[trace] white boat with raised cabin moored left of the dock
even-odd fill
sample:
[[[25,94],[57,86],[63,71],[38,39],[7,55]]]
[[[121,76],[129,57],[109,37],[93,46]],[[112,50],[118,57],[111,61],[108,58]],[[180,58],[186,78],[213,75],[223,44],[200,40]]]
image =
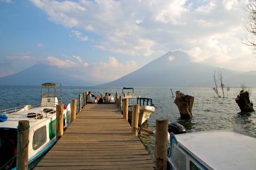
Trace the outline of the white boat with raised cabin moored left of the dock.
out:
[[[17,126],[20,120],[28,120],[30,125],[28,169],[33,168],[42,159],[57,141],[56,105],[58,104],[62,104],[61,84],[43,83],[40,104],[0,111],[0,115],[7,118],[5,122],[0,122],[0,168],[4,166],[3,169],[16,169]],[[65,129],[69,124],[70,104],[64,105],[63,109]],[[11,161],[7,163],[9,160]]]

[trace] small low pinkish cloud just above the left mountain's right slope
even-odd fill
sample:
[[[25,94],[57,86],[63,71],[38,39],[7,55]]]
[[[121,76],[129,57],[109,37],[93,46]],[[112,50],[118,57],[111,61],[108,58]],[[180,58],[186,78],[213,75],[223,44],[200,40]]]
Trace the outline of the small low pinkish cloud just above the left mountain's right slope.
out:
[[[77,63],[72,62],[70,60],[60,60],[59,58],[53,56],[48,56],[47,62],[48,64],[57,66],[59,68],[71,68],[79,66]]]

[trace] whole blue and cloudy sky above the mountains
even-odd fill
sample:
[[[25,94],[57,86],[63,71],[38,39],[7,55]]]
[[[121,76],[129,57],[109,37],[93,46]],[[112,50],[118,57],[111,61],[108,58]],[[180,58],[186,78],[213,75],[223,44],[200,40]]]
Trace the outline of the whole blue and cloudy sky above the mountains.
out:
[[[255,52],[241,43],[250,37],[248,3],[0,0],[0,77],[43,63],[103,83],[174,50],[191,62],[253,71]]]

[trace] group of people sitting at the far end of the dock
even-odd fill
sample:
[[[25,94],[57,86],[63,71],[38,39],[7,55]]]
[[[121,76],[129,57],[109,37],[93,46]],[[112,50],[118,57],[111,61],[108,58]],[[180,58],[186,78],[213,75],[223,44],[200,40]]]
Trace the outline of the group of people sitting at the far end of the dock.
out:
[[[94,99],[93,99],[94,98]],[[91,91],[89,91],[88,95],[86,96],[86,103],[93,103],[93,104],[109,104],[115,103],[115,99],[111,94],[107,93],[105,96],[101,93],[100,96],[94,96]]]

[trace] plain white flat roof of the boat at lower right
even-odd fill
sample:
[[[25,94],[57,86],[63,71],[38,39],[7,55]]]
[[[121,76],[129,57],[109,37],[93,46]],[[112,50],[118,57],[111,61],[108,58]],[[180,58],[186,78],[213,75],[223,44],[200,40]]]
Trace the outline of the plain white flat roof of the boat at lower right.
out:
[[[255,169],[256,138],[235,130],[175,135],[179,145],[213,169]]]

